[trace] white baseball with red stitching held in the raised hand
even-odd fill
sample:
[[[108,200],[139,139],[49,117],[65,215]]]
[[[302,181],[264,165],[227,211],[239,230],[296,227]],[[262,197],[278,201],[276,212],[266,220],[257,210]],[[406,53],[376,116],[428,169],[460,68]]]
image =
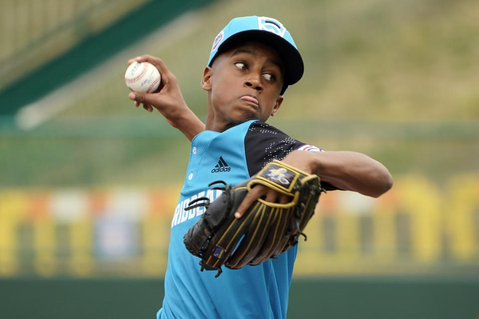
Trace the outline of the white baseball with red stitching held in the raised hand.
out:
[[[156,66],[149,62],[133,62],[125,72],[126,86],[133,92],[155,92],[161,82]]]

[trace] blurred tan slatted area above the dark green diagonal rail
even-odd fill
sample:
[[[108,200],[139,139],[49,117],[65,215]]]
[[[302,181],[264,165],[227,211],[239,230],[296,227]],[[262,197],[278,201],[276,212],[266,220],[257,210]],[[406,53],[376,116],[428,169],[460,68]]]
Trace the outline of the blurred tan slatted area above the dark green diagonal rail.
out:
[[[147,0],[1,0],[0,87]]]

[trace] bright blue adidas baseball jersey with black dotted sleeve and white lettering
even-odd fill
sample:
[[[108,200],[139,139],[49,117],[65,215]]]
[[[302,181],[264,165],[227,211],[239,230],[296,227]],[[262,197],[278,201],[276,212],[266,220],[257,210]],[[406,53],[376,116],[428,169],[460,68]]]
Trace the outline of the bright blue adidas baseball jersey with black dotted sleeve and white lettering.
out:
[[[221,194],[210,189],[210,182],[239,183],[293,150],[322,151],[258,121],[222,133],[204,131],[193,139],[185,182],[171,221],[165,298],[158,319],[286,318],[297,245],[257,266],[225,268],[215,278],[216,271],[200,271],[200,258],[187,251],[183,236],[205,209],[186,211],[189,202],[199,197],[213,201]],[[328,184],[323,187],[334,189]]]

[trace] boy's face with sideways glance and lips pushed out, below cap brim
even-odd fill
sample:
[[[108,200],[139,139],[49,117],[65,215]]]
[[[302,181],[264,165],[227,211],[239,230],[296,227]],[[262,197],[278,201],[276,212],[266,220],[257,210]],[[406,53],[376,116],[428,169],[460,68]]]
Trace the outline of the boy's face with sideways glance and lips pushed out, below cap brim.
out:
[[[258,42],[243,43],[218,55],[202,79],[215,127],[266,121],[283,100],[279,95],[283,72],[279,54]]]

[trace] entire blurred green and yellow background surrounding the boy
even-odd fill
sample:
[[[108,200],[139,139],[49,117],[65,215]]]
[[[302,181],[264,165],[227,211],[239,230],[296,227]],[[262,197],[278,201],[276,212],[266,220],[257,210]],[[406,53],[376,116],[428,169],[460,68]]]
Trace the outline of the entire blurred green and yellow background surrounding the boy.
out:
[[[128,100],[126,62],[161,57],[205,119],[213,39],[253,14],[305,64],[269,123],[395,178],[321,198],[288,318],[479,314],[478,1],[1,0],[0,318],[153,318],[189,142]]]

